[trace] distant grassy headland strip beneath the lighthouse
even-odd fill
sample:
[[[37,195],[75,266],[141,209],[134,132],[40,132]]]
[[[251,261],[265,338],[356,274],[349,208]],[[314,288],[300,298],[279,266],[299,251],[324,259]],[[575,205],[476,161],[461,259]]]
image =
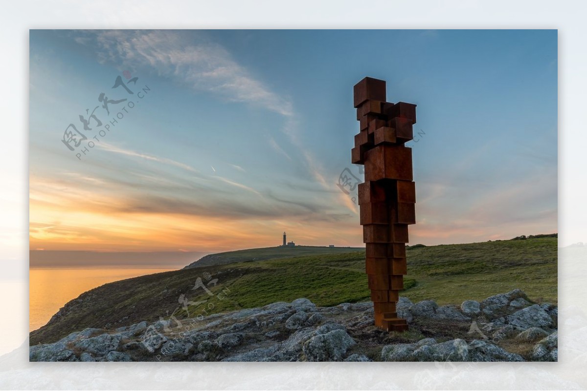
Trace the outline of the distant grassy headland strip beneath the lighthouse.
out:
[[[265,247],[246,250],[228,251],[206,255],[196,262],[190,263],[184,269],[210,265],[227,265],[228,263],[247,262],[249,260],[266,260],[277,258],[292,258],[293,256],[332,255],[348,253],[351,251],[365,251],[365,248],[357,247],[319,247],[319,246],[295,246],[295,247]]]

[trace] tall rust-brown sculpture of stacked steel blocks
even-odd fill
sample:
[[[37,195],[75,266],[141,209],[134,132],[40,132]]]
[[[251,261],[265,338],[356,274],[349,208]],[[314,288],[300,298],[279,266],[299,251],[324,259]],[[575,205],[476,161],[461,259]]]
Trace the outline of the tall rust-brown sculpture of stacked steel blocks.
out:
[[[386,102],[385,81],[366,77],[355,85],[355,108],[359,134],[351,159],[365,164],[358,197],[375,325],[404,331],[396,304],[407,274],[407,226],[416,223],[411,148],[404,143],[413,137],[416,105]]]

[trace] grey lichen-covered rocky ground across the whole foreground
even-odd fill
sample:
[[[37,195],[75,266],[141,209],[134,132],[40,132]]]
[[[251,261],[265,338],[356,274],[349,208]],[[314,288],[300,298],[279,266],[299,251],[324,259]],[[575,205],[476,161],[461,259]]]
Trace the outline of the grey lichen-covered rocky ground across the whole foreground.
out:
[[[29,348],[31,361],[557,361],[558,308],[521,290],[460,306],[400,298],[407,332],[373,326],[372,303],[308,299],[196,318],[86,328]]]

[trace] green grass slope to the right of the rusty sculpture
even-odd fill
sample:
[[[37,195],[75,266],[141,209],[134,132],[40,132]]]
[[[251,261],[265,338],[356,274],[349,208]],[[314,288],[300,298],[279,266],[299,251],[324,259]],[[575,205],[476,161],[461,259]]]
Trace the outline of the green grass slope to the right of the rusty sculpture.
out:
[[[532,300],[557,303],[556,243],[537,238],[410,248],[408,275],[418,284],[404,296],[457,304],[519,288]]]

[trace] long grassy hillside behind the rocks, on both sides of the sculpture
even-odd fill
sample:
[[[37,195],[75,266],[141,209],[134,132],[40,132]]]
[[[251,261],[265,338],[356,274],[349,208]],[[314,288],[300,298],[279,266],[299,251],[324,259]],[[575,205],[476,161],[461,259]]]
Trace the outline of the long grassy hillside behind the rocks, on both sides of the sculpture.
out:
[[[402,296],[459,304],[519,288],[534,301],[556,303],[556,253],[556,238],[409,248]],[[202,287],[193,289],[198,277],[203,283],[211,279],[212,296]],[[248,260],[105,284],[70,301],[62,315],[31,332],[31,344],[86,327],[205,316],[298,297],[318,306],[369,300],[365,252]],[[194,304],[198,301],[204,302]]]

